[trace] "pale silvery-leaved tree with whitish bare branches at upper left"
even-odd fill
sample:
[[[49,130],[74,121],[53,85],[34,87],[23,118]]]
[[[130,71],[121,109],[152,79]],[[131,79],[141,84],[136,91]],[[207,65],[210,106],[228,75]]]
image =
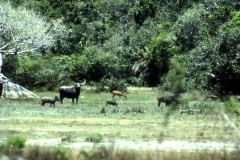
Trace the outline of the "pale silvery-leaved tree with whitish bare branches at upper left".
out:
[[[44,53],[67,35],[61,20],[46,21],[31,10],[0,3],[0,72],[7,55]]]

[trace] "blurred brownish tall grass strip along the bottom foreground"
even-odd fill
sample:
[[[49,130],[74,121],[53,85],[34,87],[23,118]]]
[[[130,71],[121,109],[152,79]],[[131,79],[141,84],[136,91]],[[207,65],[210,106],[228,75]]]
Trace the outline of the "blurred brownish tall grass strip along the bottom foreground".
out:
[[[238,159],[239,151],[235,152],[208,152],[208,151],[164,151],[154,149],[119,149],[114,144],[111,146],[97,146],[92,149],[79,149],[72,150],[63,148],[61,146],[56,147],[44,147],[44,146],[27,146],[22,152],[19,150],[9,151],[4,146],[0,146],[0,151],[3,151],[9,157],[18,155],[27,160],[233,160]],[[6,153],[11,153],[6,154]],[[1,157],[1,156],[0,156]]]

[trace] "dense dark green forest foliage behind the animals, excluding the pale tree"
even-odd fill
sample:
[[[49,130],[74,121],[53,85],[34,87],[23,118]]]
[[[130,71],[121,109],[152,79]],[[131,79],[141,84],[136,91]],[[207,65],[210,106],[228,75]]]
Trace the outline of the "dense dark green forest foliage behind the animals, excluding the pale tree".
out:
[[[61,18],[69,31],[42,56],[11,57],[14,65],[7,57],[2,72],[21,85],[53,90],[85,78],[100,88],[160,85],[174,91],[180,78],[181,91],[240,91],[237,0],[10,2],[48,21]]]

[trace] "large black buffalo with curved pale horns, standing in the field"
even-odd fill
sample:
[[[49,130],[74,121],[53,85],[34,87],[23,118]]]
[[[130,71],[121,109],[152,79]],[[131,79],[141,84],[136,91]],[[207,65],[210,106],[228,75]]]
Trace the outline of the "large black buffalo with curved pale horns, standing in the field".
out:
[[[74,104],[74,98],[76,98],[76,104],[77,104],[78,97],[81,91],[81,86],[85,84],[86,84],[86,80],[84,79],[83,83],[75,83],[74,86],[61,86],[59,88],[61,103],[63,101],[63,98],[72,98],[72,103]]]

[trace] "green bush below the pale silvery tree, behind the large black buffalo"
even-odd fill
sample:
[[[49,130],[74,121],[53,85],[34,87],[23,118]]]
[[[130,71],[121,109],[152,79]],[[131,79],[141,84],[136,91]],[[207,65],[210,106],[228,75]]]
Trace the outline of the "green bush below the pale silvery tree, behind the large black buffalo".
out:
[[[16,59],[16,62],[14,61],[16,66],[11,65],[11,60],[14,59]],[[59,58],[52,54],[39,56],[28,53],[24,57],[9,57],[4,64],[3,71],[8,72],[6,76],[9,76],[15,83],[28,89],[52,91],[62,83],[66,84],[70,81],[71,65],[67,62],[71,62],[67,56]]]

